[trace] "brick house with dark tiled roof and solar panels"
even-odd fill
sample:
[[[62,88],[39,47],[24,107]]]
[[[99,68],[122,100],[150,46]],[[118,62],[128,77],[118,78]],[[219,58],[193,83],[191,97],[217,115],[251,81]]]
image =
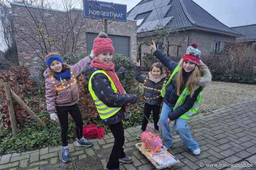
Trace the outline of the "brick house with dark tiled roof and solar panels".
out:
[[[161,44],[166,36],[164,42],[168,51],[165,52],[170,57],[183,57],[191,42],[198,44],[202,55],[218,53],[226,43],[234,43],[242,36],[192,0],[141,0],[128,12],[128,18],[137,21],[138,44],[147,38]],[[163,28],[166,33],[159,33]],[[148,52],[150,47],[141,45],[139,50],[143,57],[144,51]]]

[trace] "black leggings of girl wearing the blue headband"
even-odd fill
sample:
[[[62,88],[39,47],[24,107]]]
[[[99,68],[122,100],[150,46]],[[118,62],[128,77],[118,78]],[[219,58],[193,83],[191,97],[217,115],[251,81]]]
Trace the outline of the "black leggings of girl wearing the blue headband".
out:
[[[71,115],[76,125],[77,139],[83,137],[83,120],[80,109],[77,104],[72,106],[57,106],[59,122],[61,123],[62,146],[67,146],[68,113]]]

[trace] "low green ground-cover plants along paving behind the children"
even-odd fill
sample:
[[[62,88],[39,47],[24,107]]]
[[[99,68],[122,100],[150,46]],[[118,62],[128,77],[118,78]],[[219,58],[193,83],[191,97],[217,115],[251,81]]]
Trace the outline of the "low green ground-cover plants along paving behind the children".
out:
[[[130,108],[132,116],[127,121],[123,121],[124,128],[135,127],[141,125],[143,119],[143,106],[139,102],[139,109],[136,105]],[[22,130],[18,132],[16,138],[12,137],[12,130],[1,127],[0,132],[0,154],[25,152],[29,150],[37,150],[39,148],[54,147],[61,145],[61,127],[59,123],[52,121],[47,112],[42,111],[37,114],[45,123],[46,128],[40,127],[37,122],[30,120],[26,121]],[[153,122],[150,117],[150,122]],[[105,134],[110,132],[107,125],[104,125],[100,119],[95,119],[89,122],[84,121],[84,126],[94,123],[99,127],[104,127]],[[75,123],[69,122],[68,142],[72,143],[76,138]]]

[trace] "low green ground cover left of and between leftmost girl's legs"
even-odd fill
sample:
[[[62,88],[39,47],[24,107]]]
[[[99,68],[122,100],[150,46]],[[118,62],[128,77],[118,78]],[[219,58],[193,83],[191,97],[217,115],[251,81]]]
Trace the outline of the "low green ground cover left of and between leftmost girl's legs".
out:
[[[51,121],[48,113],[37,114],[46,125],[40,127],[35,121],[26,121],[16,138],[12,138],[12,130],[3,128],[0,134],[0,153],[24,152],[47,146],[61,145],[61,127],[59,123]],[[75,123],[69,122],[69,143],[75,139]]]

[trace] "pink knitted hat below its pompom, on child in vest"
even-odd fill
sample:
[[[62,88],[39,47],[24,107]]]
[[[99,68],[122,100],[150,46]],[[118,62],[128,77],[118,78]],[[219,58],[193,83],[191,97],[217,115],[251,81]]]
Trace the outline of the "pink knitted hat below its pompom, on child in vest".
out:
[[[103,52],[114,53],[114,47],[110,38],[95,38],[93,41],[93,55],[98,56]]]

